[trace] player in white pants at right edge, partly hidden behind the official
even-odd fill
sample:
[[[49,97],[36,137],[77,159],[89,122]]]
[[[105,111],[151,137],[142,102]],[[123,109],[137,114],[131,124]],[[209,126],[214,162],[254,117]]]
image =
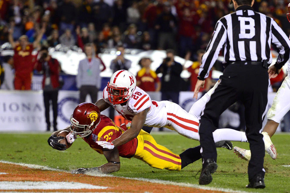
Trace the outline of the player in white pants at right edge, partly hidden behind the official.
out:
[[[290,22],[290,3],[288,4],[287,19]],[[289,37],[290,39],[290,37]],[[279,60],[279,58],[278,58]],[[276,72],[276,76],[280,73],[281,69]],[[265,143],[265,150],[270,154],[273,160],[277,158],[277,150],[272,143],[270,137],[276,132],[281,119],[290,110],[290,60],[287,62],[288,75],[282,82],[281,87],[278,89],[276,96],[273,100],[272,106],[267,113],[268,121],[262,131],[264,135],[263,140]],[[275,77],[273,77],[275,78]],[[244,160],[249,161],[251,158],[251,151],[245,150],[240,147],[234,147],[234,152]]]

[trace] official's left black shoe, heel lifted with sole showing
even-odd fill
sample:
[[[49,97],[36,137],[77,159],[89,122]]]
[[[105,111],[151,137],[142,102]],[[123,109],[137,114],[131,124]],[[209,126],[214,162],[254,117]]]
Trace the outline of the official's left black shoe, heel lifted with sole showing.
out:
[[[199,184],[206,185],[211,183],[212,177],[211,174],[215,172],[218,168],[217,163],[215,163],[214,159],[209,158],[202,164],[201,173],[199,176]]]

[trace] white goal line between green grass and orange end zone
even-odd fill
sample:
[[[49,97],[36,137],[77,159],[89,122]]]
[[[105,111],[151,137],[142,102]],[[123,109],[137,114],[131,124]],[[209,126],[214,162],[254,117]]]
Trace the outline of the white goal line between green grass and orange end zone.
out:
[[[16,164],[20,166],[26,166],[29,168],[34,169],[43,169],[43,170],[51,170],[51,171],[60,171],[60,172],[67,172],[70,173],[70,171],[62,170],[62,169],[54,169],[50,168],[48,166],[40,166],[40,165],[34,165],[34,164],[27,164],[27,163],[14,163],[14,162],[8,162],[0,160],[1,163],[8,163],[8,164]],[[131,180],[139,180],[139,181],[145,181],[145,182],[152,182],[152,183],[158,183],[158,184],[167,184],[167,185],[177,185],[177,186],[185,186],[185,187],[191,187],[191,188],[199,188],[203,190],[212,190],[212,191],[224,191],[224,192],[232,192],[232,193],[249,193],[247,191],[239,191],[239,190],[232,190],[228,188],[214,188],[214,187],[205,187],[197,184],[189,184],[189,183],[183,183],[183,182],[172,182],[167,180],[158,180],[158,179],[146,179],[146,178],[127,178],[127,177],[120,177],[120,176],[113,176],[109,174],[96,174],[96,173],[87,173],[89,176],[98,176],[98,177],[117,177],[117,178],[124,178],[124,179],[131,179]],[[252,192],[255,193],[255,192]]]

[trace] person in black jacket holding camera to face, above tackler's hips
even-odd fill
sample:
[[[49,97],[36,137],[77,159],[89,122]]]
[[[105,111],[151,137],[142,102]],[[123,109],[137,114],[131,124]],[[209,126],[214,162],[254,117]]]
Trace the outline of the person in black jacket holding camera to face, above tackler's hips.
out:
[[[182,65],[174,60],[174,50],[166,50],[166,58],[156,69],[156,74],[162,73],[161,77],[161,100],[172,100],[179,104],[179,91],[181,89]]]

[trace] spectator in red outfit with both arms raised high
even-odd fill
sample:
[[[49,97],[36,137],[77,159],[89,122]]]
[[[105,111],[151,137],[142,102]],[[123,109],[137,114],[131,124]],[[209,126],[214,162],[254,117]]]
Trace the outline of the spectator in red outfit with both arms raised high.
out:
[[[14,28],[9,31],[8,40],[11,47],[14,49],[14,68],[15,90],[31,90],[31,76],[35,64],[35,57],[31,54],[34,48],[36,48],[45,32],[45,26],[40,30],[35,41],[30,44],[26,35],[20,36],[19,43],[15,43],[12,37]]]

